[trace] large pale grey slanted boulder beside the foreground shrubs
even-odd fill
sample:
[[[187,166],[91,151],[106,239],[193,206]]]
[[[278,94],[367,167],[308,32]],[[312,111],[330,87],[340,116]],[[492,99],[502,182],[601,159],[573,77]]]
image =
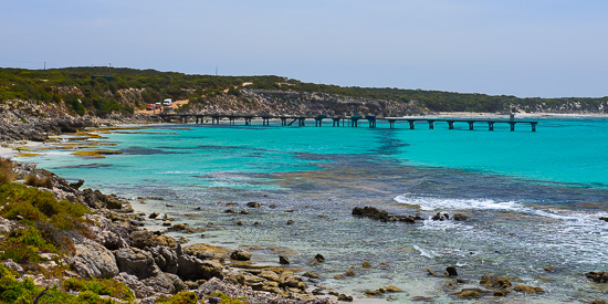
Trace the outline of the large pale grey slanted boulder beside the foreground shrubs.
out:
[[[67,263],[76,270],[78,275],[108,279],[118,274],[116,258],[105,247],[87,239],[74,247],[76,253],[67,259]]]

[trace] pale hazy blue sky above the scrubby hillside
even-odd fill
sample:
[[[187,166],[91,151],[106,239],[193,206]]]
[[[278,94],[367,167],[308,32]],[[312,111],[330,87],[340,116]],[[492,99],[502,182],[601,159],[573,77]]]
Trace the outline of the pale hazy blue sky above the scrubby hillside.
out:
[[[605,0],[1,0],[0,67],[608,96]]]

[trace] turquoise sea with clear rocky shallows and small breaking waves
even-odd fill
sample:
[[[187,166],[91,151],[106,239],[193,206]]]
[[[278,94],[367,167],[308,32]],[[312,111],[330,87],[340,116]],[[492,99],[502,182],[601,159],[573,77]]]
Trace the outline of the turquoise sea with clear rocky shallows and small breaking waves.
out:
[[[84,158],[74,149],[44,149],[20,160],[128,198],[137,212],[206,228],[170,235],[247,248],[261,264],[285,255],[290,266],[319,273],[318,284],[357,297],[396,285],[405,292],[382,298],[451,302],[462,289],[481,287],[483,274],[495,274],[545,290],[514,292],[510,301],[608,298],[606,286],[584,275],[608,270],[608,222],[599,220],[608,217],[608,119],[538,120],[535,133],[523,124],[515,132],[506,124],[469,130],[464,123],[454,129],[445,123],[434,129],[426,123],[416,129],[407,123],[395,129],[382,123],[150,125],[87,139],[122,154]],[[248,208],[251,201],[261,208]],[[350,214],[364,206],[424,220],[382,223]],[[469,219],[433,221],[437,212]],[[147,224],[165,229],[161,221]],[[308,265],[317,253],[326,262]],[[464,283],[427,274],[449,265]],[[348,269],[356,275],[334,277]]]

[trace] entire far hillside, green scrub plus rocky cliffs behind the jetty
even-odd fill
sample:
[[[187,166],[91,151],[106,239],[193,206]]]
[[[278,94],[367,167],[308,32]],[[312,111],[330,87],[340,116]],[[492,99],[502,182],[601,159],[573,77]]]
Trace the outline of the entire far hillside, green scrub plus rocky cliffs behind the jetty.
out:
[[[182,112],[379,116],[423,112],[608,113],[608,97],[518,98],[440,91],[343,87],[280,76],[188,75],[154,70],[0,69],[0,103],[55,105],[73,115],[133,114],[164,98]]]

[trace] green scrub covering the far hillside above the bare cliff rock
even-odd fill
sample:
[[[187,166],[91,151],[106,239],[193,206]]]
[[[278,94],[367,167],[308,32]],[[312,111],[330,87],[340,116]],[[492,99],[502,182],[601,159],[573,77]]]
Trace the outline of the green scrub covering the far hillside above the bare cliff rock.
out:
[[[405,84],[407,85],[407,84]],[[608,97],[516,97],[391,87],[357,87],[304,83],[281,76],[189,75],[154,70],[66,67],[54,70],[0,69],[0,102],[21,99],[64,103],[75,114],[104,117],[133,114],[164,98],[189,99],[192,105],[222,103],[218,96],[251,102],[242,90],[322,93],[373,101],[417,102],[431,112],[553,112],[606,113]]]

